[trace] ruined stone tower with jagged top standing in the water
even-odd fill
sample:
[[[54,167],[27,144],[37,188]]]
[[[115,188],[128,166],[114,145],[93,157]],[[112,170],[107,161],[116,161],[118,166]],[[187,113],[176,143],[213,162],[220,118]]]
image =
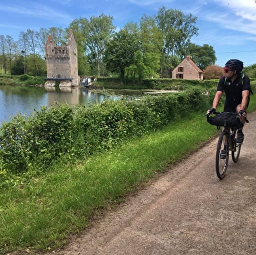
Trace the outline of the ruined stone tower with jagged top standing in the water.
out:
[[[72,87],[80,85],[78,53],[72,29],[69,29],[67,46],[56,46],[52,35],[45,44],[47,78],[45,86]]]

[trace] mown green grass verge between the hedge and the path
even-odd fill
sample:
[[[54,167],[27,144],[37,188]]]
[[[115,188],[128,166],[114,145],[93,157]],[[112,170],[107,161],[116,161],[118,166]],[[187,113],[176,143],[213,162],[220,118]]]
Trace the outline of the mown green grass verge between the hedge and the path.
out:
[[[256,108],[254,97],[249,110]],[[93,215],[145,187],[217,132],[203,113],[194,114],[86,162],[63,160],[29,183],[1,190],[0,254],[61,247]]]

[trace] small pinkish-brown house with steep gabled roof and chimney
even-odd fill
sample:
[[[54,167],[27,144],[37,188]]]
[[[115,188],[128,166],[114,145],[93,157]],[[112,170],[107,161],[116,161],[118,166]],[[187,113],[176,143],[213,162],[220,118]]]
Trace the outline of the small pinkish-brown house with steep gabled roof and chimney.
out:
[[[190,55],[187,55],[180,65],[172,71],[172,79],[203,80],[203,74],[204,72],[195,65]]]

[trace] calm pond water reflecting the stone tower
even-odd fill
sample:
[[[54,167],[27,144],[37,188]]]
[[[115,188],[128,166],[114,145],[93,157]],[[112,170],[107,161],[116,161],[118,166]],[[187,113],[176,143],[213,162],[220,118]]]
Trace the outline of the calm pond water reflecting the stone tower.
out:
[[[116,93],[111,91],[110,94]],[[34,109],[41,106],[52,106],[55,102],[65,102],[70,105],[102,103],[108,98],[117,100],[121,97],[134,98],[141,95],[140,91],[119,91],[118,95],[104,95],[101,91],[93,92],[83,87],[76,88],[44,88],[0,86],[0,125],[9,121],[10,117],[21,113],[30,115]]]

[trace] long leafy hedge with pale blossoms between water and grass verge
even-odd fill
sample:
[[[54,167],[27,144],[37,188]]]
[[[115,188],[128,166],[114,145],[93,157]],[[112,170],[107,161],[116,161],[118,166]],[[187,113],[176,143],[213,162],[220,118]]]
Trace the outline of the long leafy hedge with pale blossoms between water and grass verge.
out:
[[[63,156],[88,158],[207,107],[208,98],[199,89],[139,100],[107,100],[89,107],[42,107],[3,124],[0,163],[5,173],[46,171]]]

